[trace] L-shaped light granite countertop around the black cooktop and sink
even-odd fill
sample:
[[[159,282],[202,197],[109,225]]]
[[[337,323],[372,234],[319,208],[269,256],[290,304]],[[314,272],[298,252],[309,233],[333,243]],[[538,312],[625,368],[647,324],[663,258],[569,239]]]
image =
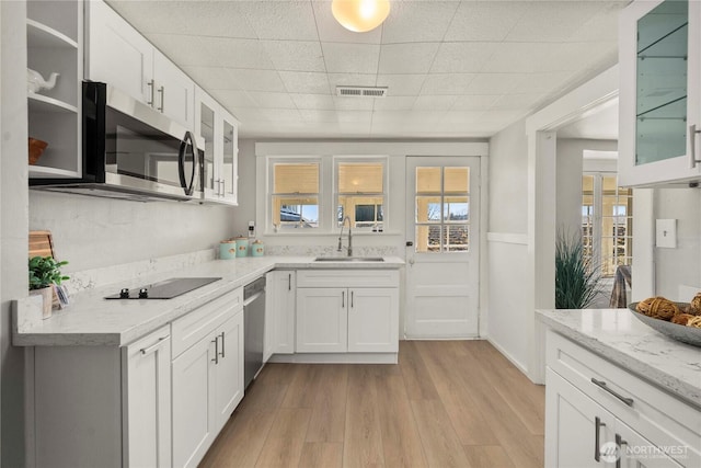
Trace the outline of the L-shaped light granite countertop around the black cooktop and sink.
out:
[[[148,278],[90,289],[70,298],[70,305],[42,320],[38,297],[15,301],[13,339],[15,346],[122,346],[222,294],[246,285],[275,270],[378,270],[400,269],[404,261],[386,256],[383,262],[314,262],[313,256],[261,256],[215,260]],[[172,299],[107,300],[120,288],[135,288],[170,277],[221,277],[220,281]]]

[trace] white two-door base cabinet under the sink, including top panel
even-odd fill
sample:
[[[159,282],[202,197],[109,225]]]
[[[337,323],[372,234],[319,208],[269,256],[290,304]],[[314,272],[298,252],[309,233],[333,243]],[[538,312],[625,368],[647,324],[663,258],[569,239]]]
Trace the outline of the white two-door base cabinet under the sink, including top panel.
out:
[[[298,353],[397,353],[397,271],[300,271]]]

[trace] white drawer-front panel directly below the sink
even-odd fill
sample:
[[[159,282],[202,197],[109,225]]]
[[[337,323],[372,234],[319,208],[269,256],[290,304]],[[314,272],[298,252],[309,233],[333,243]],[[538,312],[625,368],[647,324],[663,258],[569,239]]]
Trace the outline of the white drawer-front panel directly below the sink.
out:
[[[399,287],[397,270],[301,270],[297,287]]]

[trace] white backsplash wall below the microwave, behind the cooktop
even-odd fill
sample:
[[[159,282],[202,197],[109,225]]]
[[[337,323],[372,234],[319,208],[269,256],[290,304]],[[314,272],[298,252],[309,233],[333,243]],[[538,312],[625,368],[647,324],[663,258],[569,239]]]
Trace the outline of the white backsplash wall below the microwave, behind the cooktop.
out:
[[[233,209],[30,191],[30,228],[50,230],[67,273],[216,249],[233,236]]]

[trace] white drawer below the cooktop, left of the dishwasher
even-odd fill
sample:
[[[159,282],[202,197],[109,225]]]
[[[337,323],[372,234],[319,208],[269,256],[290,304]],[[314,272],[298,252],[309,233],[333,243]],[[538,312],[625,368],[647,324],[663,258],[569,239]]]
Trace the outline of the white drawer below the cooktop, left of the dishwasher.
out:
[[[243,310],[243,288],[205,304],[172,323],[173,358],[197,343],[237,311]]]

